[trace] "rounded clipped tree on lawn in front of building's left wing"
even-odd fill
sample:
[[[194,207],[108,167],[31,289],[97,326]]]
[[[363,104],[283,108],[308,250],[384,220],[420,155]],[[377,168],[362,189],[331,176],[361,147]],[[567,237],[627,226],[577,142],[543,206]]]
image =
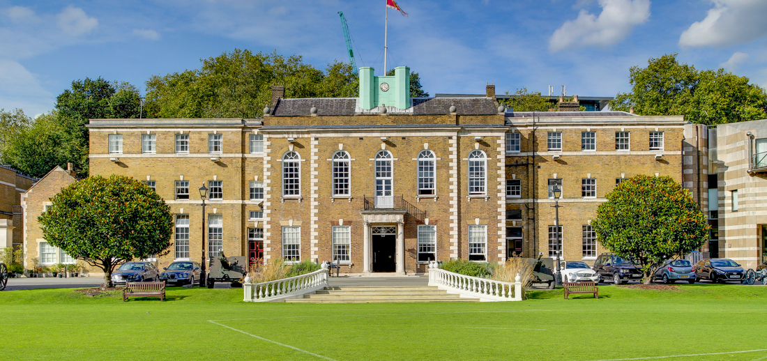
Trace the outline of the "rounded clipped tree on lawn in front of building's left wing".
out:
[[[125,176],[92,176],[51,198],[38,220],[43,237],[71,257],[104,271],[126,261],[164,255],[173,234],[170,207],[152,189]]]

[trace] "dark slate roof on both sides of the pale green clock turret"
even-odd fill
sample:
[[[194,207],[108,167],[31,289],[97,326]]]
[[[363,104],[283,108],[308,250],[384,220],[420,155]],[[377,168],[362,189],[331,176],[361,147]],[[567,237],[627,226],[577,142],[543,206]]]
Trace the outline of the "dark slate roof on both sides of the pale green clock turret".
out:
[[[492,115],[498,113],[498,105],[487,98],[413,98],[415,115],[445,115],[450,107],[456,107],[458,115]],[[349,116],[357,113],[357,98],[298,98],[280,99],[272,110],[274,117],[300,117],[311,115],[311,107],[317,108],[318,116]]]

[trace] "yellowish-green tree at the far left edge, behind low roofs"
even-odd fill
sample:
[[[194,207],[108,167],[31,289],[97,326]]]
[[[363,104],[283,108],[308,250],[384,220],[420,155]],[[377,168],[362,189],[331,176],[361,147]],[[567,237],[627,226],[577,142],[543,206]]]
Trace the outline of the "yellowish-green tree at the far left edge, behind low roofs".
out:
[[[21,123],[4,137],[0,161],[30,176],[41,177],[70,160],[65,147],[68,139],[58,115],[43,114],[31,123]]]

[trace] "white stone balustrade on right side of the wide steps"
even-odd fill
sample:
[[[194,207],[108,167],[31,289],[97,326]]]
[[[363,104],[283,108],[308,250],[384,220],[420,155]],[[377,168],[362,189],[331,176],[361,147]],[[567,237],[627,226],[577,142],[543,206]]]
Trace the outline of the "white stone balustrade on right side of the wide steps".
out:
[[[479,298],[482,302],[522,300],[522,278],[515,282],[494,281],[486,278],[465,276],[439,269],[437,262],[429,264],[429,285],[446,290],[449,294]]]

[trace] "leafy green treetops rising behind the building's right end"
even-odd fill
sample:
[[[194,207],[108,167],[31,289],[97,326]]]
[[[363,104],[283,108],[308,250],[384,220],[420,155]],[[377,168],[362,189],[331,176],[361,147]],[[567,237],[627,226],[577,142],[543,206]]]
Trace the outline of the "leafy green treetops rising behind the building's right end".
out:
[[[719,69],[698,71],[680,64],[676,54],[650,58],[647,67],[631,67],[630,93],[610,102],[614,110],[640,115],[683,115],[700,124],[734,123],[767,118],[767,93],[748,77]]]

